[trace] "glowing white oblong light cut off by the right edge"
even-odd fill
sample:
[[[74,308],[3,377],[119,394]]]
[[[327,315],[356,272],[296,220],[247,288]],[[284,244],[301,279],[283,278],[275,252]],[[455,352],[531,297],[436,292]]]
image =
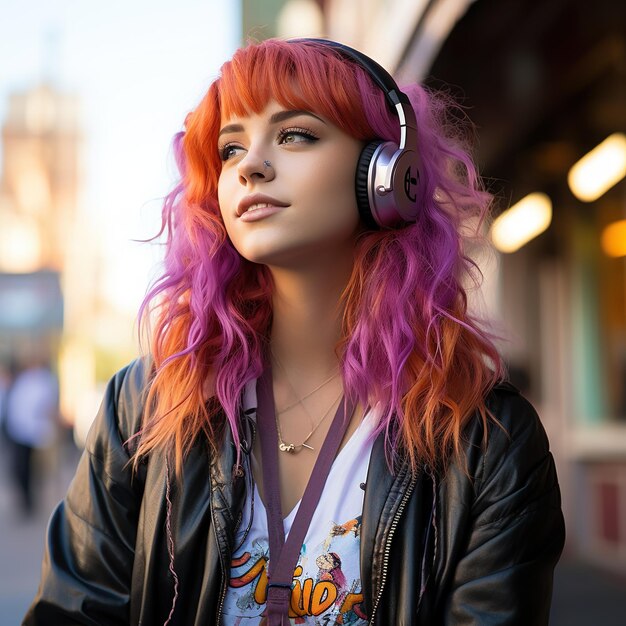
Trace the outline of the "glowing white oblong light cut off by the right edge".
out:
[[[567,175],[572,193],[592,202],[626,176],[626,135],[613,133],[575,163]]]

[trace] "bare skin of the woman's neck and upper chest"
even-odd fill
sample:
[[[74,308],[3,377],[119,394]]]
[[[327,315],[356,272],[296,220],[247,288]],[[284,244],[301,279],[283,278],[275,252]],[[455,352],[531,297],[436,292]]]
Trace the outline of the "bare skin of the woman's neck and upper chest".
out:
[[[322,267],[324,262],[326,266]],[[351,270],[351,264],[343,265],[336,258],[321,260],[311,272],[272,268],[275,419],[283,445],[297,448],[293,453],[279,452],[283,516],[302,498],[343,394],[335,348],[341,338],[340,298]],[[350,439],[360,419],[357,408],[350,417],[342,445]],[[259,442],[257,437],[257,459],[261,456]],[[253,471],[263,497],[258,466]]]

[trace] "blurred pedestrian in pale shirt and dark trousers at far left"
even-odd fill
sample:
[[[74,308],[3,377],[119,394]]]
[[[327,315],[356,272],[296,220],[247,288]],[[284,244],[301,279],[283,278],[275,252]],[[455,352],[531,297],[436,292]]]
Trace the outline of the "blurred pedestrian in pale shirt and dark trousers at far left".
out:
[[[59,388],[49,366],[31,359],[6,395],[5,432],[11,448],[11,477],[25,515],[34,511],[34,453],[50,446],[59,417]]]

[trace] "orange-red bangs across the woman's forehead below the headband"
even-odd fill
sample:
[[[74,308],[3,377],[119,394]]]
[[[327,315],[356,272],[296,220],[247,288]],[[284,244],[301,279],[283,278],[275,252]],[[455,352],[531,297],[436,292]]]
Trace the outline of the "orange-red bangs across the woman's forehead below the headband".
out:
[[[217,81],[224,120],[260,113],[276,100],[288,110],[321,115],[362,140],[375,137],[363,106],[364,90],[375,93],[377,88],[364,70],[334,49],[276,39],[238,50]]]

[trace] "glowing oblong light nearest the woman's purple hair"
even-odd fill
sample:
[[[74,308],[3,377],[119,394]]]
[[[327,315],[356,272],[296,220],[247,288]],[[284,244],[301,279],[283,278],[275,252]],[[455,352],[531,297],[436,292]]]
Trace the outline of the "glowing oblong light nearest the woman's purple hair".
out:
[[[496,218],[491,240],[500,252],[515,252],[546,230],[551,221],[550,198],[545,193],[531,193]]]

